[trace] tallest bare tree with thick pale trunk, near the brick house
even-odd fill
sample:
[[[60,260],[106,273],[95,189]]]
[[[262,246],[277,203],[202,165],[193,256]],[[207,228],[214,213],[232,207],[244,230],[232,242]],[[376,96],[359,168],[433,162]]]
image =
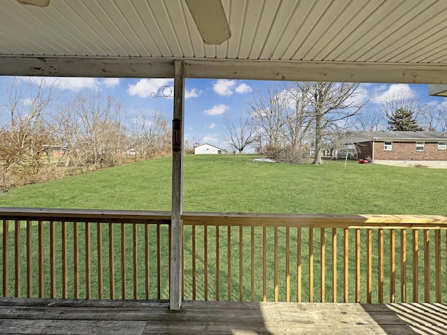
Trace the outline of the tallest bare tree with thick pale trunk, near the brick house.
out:
[[[314,124],[314,164],[321,164],[325,131],[357,114],[367,103],[357,83],[297,82]]]

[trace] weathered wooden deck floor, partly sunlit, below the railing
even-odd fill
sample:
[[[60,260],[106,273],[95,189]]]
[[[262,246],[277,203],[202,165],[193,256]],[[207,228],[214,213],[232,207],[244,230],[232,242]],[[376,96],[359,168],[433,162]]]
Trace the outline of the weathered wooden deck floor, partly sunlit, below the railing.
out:
[[[0,334],[447,334],[444,304],[0,298]]]

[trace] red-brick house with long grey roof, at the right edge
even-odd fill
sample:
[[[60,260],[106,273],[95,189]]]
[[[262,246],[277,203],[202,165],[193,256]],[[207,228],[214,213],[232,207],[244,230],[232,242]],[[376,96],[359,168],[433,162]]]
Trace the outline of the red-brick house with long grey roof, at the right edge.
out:
[[[376,164],[447,168],[447,132],[348,132],[342,144],[355,144],[358,158]]]

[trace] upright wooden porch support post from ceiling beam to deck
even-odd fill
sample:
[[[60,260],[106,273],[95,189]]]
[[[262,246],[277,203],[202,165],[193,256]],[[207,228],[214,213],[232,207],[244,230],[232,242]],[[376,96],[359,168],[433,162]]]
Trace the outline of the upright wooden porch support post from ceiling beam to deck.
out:
[[[178,311],[182,305],[184,61],[175,61],[174,68],[173,206],[170,223],[169,307],[171,310]]]

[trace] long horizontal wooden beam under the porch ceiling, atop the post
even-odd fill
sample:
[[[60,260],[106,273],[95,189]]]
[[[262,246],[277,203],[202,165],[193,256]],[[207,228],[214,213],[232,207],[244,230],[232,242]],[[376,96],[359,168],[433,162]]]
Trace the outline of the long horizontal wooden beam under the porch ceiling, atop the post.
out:
[[[0,75],[172,78],[183,61],[191,78],[447,84],[446,64],[173,57],[0,55]]]

